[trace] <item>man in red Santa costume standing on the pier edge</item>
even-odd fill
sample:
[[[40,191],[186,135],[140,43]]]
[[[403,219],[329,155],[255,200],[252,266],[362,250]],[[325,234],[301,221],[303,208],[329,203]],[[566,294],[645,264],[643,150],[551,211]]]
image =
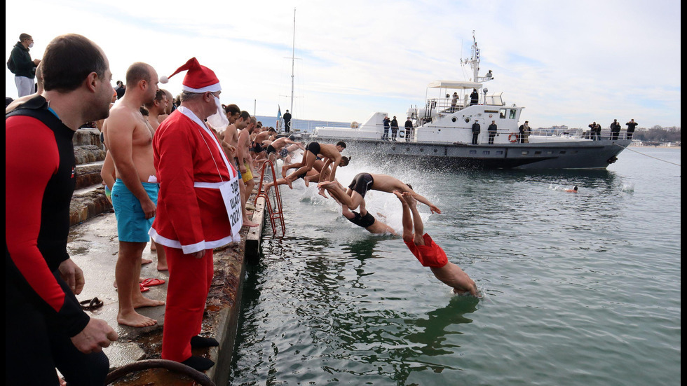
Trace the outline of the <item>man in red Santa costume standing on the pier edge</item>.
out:
[[[242,217],[238,174],[205,123],[218,130],[229,124],[219,80],[195,57],[171,76],[180,71],[187,71],[182,104],[153,137],[160,193],[149,234],[164,246],[170,274],[162,358],[205,371],[215,362],[191,355],[191,347],[219,345],[198,335],[212,282],[212,249],[240,240]]]

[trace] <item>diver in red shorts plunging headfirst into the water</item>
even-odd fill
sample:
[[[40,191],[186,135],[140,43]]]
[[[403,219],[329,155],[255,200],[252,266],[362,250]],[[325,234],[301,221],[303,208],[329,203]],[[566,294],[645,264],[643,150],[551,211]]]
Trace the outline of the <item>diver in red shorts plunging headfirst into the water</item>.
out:
[[[453,287],[454,294],[478,296],[475,282],[460,267],[449,262],[444,249],[438,246],[430,235],[424,233],[422,218],[417,210],[417,202],[413,195],[409,192],[401,193],[400,191],[394,191],[393,194],[403,205],[403,242],[422,266],[429,267],[437,279],[449,287]],[[413,228],[415,233],[413,233]]]

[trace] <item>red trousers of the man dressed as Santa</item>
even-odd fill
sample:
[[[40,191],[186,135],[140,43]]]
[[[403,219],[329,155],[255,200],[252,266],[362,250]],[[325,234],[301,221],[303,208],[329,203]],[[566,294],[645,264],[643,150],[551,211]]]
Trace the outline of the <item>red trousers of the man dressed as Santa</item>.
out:
[[[182,362],[191,357],[191,338],[200,333],[214,266],[212,249],[196,259],[181,249],[165,247],[170,278],[167,284],[162,359]]]

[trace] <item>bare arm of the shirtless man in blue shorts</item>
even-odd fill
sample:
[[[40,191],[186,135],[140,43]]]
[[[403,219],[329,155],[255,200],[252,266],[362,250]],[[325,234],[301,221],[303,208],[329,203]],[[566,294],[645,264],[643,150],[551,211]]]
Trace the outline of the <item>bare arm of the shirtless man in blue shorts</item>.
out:
[[[112,153],[114,166],[126,188],[141,202],[146,219],[155,216],[155,204],[141,184],[141,179],[134,165],[133,133],[136,121],[123,111],[116,111],[105,120],[103,130],[107,137],[107,147]]]

